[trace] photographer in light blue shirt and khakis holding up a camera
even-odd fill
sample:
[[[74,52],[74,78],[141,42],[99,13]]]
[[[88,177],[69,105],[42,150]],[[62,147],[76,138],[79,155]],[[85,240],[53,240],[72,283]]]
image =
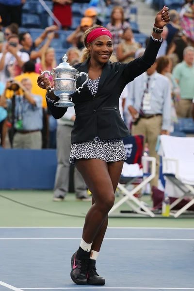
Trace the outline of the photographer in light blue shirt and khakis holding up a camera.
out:
[[[43,127],[42,97],[31,93],[32,82],[28,78],[22,79],[21,82],[14,81],[15,84],[23,91],[22,95],[16,95],[15,98],[15,118],[14,128],[15,135],[13,141],[14,148],[41,149]],[[6,82],[6,88],[0,98],[0,106],[12,108],[12,99],[6,100],[6,90],[10,88],[10,81]]]

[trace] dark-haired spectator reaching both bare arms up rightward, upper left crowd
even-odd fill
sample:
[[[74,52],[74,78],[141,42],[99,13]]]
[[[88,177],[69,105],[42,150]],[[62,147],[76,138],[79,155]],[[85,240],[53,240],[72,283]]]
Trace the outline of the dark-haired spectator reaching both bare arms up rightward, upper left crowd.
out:
[[[40,58],[43,50],[49,47],[52,39],[54,38],[54,31],[56,29],[57,27],[55,25],[47,27],[45,31],[34,40],[34,42],[32,41],[32,36],[30,35],[29,32],[19,33],[19,42],[22,45],[22,49],[20,49],[20,51],[27,52],[31,60],[36,60],[37,58]],[[42,46],[42,48],[39,50],[35,50],[43,43],[46,37],[48,37],[48,39],[46,43]]]

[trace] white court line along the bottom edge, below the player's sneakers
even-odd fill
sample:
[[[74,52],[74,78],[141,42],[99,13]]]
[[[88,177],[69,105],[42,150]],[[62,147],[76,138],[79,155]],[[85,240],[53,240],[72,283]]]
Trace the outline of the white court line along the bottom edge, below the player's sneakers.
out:
[[[62,288],[21,288],[21,290],[55,290],[55,289],[127,289],[127,290],[194,290],[194,288],[162,288],[162,287],[62,287]]]

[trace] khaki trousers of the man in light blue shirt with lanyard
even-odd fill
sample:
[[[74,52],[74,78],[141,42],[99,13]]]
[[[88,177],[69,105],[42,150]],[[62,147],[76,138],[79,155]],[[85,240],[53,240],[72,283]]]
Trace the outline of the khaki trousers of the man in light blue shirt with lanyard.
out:
[[[137,125],[132,126],[132,135],[144,135],[144,143],[148,143],[149,156],[156,158],[156,176],[150,182],[152,186],[158,187],[159,170],[160,170],[160,157],[155,148],[157,144],[158,135],[162,129],[162,115],[157,115],[151,118],[141,118]],[[152,191],[151,191],[152,193]]]

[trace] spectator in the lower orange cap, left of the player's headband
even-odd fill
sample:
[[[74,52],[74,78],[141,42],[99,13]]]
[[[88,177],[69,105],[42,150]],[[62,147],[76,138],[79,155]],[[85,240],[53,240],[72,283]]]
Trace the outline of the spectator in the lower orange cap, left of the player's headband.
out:
[[[80,26],[72,32],[66,39],[66,41],[72,44],[74,47],[78,49],[82,49],[83,45],[83,33],[90,27],[93,26],[93,20],[91,17],[83,17],[81,18]]]

